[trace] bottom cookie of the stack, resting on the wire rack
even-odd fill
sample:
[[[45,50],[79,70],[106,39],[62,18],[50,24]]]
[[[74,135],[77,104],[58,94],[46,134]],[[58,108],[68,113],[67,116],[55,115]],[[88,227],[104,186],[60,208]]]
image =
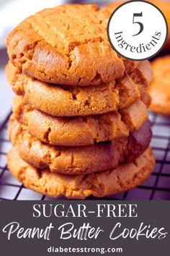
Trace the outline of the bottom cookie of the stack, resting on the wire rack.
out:
[[[64,195],[77,199],[90,195],[104,197],[133,189],[150,176],[155,164],[150,148],[132,163],[87,175],[52,174],[48,169],[34,168],[19,157],[15,148],[9,151],[7,162],[9,170],[25,187],[50,197]]]

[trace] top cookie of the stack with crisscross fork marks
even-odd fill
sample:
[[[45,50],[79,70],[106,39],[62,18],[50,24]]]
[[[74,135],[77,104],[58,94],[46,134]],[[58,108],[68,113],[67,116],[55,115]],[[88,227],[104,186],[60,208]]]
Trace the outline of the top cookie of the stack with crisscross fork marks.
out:
[[[61,85],[99,85],[138,62],[117,56],[107,39],[110,13],[96,4],[66,4],[28,17],[9,34],[9,59],[24,74]]]

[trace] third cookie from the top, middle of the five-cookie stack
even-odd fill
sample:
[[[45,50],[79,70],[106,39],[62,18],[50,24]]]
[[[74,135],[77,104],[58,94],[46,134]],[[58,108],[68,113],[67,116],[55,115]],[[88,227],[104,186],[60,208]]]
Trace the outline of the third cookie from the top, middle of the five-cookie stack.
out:
[[[24,104],[22,96],[13,101],[14,119],[27,128],[27,132],[51,145],[78,146],[128,137],[146,119],[146,105],[138,100],[120,111],[94,116],[50,116]]]

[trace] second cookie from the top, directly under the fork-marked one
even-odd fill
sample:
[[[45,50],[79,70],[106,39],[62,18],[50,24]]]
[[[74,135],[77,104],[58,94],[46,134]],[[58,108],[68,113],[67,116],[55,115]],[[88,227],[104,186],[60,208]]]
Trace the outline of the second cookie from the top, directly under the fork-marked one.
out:
[[[117,81],[84,88],[50,85],[34,80],[22,74],[21,69],[10,62],[6,66],[6,76],[14,92],[24,95],[24,101],[33,108],[52,116],[86,116],[125,108],[138,98],[144,101],[152,72],[149,62],[143,61],[133,72]]]

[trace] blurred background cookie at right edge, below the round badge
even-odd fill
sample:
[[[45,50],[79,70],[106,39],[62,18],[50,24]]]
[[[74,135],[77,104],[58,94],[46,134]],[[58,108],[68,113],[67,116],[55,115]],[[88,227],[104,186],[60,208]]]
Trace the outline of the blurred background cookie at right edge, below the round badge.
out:
[[[151,110],[170,115],[170,55],[153,61],[153,82],[149,87]]]

